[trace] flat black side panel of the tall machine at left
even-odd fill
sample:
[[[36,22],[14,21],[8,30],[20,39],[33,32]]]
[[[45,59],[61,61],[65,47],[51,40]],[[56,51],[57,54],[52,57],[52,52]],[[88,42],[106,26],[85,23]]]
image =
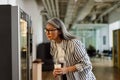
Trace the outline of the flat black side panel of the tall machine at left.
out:
[[[12,80],[11,6],[0,5],[0,79]]]

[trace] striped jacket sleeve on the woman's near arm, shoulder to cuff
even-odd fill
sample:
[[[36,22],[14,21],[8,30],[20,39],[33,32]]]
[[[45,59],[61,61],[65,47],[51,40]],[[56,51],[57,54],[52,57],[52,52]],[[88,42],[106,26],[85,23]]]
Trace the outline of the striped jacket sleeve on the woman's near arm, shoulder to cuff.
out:
[[[92,64],[90,62],[89,56],[81,41],[74,39],[73,44],[74,44],[74,59],[76,61],[75,64],[76,69],[81,72],[84,69],[92,68]]]

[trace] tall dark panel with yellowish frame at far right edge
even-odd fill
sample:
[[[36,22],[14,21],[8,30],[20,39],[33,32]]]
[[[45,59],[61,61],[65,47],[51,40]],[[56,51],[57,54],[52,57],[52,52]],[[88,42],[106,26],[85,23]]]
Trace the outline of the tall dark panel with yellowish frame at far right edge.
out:
[[[113,31],[113,65],[120,69],[120,29]]]

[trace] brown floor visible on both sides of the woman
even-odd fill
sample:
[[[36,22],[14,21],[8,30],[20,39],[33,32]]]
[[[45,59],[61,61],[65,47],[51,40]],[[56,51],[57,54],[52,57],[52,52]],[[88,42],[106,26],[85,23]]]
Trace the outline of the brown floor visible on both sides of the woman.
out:
[[[96,80],[120,80],[120,71],[112,66],[109,58],[91,58]],[[52,72],[43,72],[42,80],[54,80]]]

